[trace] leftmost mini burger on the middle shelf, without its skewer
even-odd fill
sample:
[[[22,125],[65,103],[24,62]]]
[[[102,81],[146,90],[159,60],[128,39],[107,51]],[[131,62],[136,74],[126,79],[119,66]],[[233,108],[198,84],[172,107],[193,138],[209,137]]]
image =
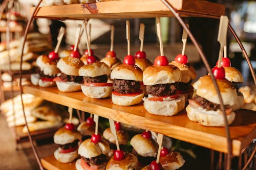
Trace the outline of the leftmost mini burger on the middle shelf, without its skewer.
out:
[[[41,55],[36,59],[36,65],[38,66],[38,74],[32,74],[30,80],[33,85],[40,87],[55,86],[56,83],[53,79],[59,74],[60,70],[57,68],[58,58],[50,58],[47,55]]]

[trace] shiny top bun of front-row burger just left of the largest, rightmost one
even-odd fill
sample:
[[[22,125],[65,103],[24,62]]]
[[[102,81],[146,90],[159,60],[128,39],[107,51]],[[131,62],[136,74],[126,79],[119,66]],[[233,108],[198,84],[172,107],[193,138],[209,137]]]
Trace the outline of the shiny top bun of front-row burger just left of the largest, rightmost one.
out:
[[[143,72],[143,84],[153,86],[156,84],[168,84],[178,82],[181,71],[174,65],[149,66]]]

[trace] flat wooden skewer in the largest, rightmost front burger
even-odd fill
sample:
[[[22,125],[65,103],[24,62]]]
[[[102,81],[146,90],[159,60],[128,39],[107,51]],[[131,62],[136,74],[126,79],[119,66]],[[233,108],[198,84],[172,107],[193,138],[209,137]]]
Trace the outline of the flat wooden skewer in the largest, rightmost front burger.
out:
[[[227,27],[228,27],[228,17],[221,16],[219,33],[218,33],[218,41],[220,42],[220,52],[218,59],[218,67],[221,67],[221,61],[223,57],[224,45],[227,39]]]

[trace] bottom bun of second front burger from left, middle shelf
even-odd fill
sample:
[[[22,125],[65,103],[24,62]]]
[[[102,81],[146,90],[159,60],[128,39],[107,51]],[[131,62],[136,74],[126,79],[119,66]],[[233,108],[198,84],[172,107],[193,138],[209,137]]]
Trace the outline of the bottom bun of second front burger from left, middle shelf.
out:
[[[72,91],[80,91],[81,84],[75,82],[56,82],[56,85],[59,91],[63,92],[72,92]]]

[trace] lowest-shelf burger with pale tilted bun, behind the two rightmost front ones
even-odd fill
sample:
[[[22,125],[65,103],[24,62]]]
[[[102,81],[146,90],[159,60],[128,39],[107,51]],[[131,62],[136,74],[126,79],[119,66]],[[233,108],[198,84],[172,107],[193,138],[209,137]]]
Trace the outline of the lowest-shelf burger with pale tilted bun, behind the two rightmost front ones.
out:
[[[142,167],[156,159],[158,144],[152,138],[150,131],[135,135],[130,143],[133,147],[132,153],[138,158]]]

